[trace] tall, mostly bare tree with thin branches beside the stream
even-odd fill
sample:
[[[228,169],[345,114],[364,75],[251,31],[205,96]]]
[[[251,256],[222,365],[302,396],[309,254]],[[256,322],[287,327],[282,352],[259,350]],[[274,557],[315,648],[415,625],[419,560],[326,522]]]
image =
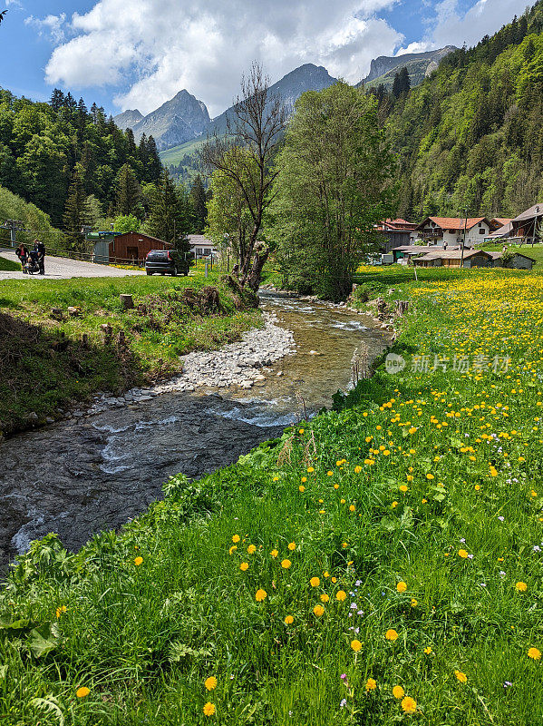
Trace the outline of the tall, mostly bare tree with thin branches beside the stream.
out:
[[[257,290],[267,260],[267,245],[258,241],[264,212],[272,201],[278,171],[273,167],[277,147],[286,124],[285,105],[269,92],[269,79],[262,66],[251,65],[241,80],[241,96],[227,118],[224,134],[215,132],[200,151],[200,161],[209,170],[219,170],[237,186],[252,220],[252,231],[240,267],[243,285]]]

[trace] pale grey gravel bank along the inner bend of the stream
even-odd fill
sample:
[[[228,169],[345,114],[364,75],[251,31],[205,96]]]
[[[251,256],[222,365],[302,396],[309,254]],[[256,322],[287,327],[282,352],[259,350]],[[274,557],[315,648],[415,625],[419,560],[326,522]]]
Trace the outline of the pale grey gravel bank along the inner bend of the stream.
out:
[[[276,315],[264,313],[263,316],[264,327],[248,330],[238,343],[183,356],[183,371],[179,376],[149,388],[131,388],[119,397],[96,397],[92,407],[75,411],[73,417],[93,416],[108,408],[136,406],[164,393],[192,392],[202,387],[252,388],[257,381],[265,380],[267,366],[296,350],[292,332],[276,325]]]

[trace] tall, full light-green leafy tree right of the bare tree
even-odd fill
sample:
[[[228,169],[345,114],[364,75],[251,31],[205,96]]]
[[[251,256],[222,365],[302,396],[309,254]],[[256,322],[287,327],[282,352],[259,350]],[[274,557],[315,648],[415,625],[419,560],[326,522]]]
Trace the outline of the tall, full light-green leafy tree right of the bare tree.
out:
[[[395,164],[377,102],[343,82],[304,93],[276,167],[271,236],[287,283],[344,299],[392,210]]]

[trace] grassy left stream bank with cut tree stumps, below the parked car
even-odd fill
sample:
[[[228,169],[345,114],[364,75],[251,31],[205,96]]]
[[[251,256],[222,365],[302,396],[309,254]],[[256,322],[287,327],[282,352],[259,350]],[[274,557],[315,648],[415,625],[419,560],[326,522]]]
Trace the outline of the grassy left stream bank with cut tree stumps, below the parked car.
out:
[[[182,299],[216,285],[222,309],[200,314]],[[120,293],[131,293],[136,309],[121,308]],[[0,431],[24,427],[35,412],[43,419],[57,407],[81,401],[98,390],[121,391],[179,370],[179,355],[216,348],[257,322],[238,311],[234,295],[217,277],[127,277],[75,280],[5,280],[0,291]],[[138,309],[143,304],[145,309]],[[70,318],[69,306],[82,309]],[[56,321],[52,308],[63,309]],[[2,313],[9,317],[2,317]],[[126,334],[128,348],[104,346],[100,326]],[[39,327],[38,327],[39,326]],[[82,333],[90,347],[82,347]],[[67,346],[60,336],[64,334]],[[60,348],[59,348],[60,347]],[[65,349],[63,349],[65,348]]]

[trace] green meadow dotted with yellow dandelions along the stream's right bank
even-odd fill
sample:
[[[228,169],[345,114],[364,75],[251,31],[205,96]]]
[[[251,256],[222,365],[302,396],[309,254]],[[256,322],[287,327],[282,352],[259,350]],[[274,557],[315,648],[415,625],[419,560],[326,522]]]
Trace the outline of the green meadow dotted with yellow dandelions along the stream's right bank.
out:
[[[541,723],[543,275],[407,280],[361,274],[412,299],[400,375],[172,480],[121,535],[34,545],[0,600],[5,723]],[[497,354],[507,372],[411,365]]]

